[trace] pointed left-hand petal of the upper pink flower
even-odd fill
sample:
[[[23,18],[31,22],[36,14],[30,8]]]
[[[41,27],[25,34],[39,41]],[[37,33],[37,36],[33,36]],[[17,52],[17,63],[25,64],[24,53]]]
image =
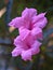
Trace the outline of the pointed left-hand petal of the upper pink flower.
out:
[[[24,25],[24,20],[22,17],[15,17],[14,19],[12,19],[11,23],[9,23],[9,26],[13,26],[15,28],[19,28],[23,25]]]

